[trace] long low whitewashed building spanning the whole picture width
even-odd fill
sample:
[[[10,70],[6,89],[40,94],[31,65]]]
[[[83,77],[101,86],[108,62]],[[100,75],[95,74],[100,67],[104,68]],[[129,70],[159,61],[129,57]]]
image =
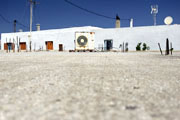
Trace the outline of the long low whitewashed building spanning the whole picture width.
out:
[[[174,50],[180,50],[180,25],[162,25],[132,28],[75,27],[54,30],[33,31],[31,37],[32,50],[49,49],[75,50],[76,32],[93,32],[94,49],[121,50],[123,44],[128,44],[130,51],[135,51],[138,43],[146,43],[150,50],[159,50],[158,43],[165,50],[166,39],[172,42]],[[29,32],[2,33],[2,50],[7,49],[6,43],[15,43],[17,50],[20,43],[21,49],[29,50]],[[83,40],[84,42],[84,40]],[[47,47],[50,45],[50,48]],[[110,46],[110,48],[108,48]]]

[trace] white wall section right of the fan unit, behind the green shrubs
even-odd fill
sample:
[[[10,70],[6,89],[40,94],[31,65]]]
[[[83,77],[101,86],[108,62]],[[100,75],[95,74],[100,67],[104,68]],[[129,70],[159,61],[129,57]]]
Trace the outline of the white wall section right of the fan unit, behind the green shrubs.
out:
[[[105,39],[113,39],[114,49],[128,42],[129,50],[136,50],[139,42],[146,43],[151,50],[159,50],[158,43],[165,49],[166,39],[172,42],[174,50],[180,50],[180,25],[162,25],[134,28],[95,30],[95,47],[104,44]]]

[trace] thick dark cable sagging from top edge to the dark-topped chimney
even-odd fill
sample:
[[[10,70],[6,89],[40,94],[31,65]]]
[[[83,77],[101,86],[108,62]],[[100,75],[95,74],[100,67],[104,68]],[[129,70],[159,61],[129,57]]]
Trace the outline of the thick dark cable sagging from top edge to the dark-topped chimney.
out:
[[[83,7],[80,7],[79,5],[74,4],[74,3],[72,3],[72,2],[70,2],[70,1],[68,1],[68,0],[64,0],[64,1],[65,1],[66,3],[72,5],[72,6],[77,7],[77,8],[79,8],[79,9],[81,9],[81,10],[83,10],[83,11],[86,11],[86,12],[88,12],[88,13],[91,13],[91,14],[94,14],[94,15],[97,15],[97,16],[100,16],[100,17],[108,18],[108,19],[113,19],[113,20],[116,19],[116,18],[113,18],[113,17],[109,17],[109,16],[106,16],[106,15],[102,15],[102,14],[99,14],[99,13],[96,13],[96,12],[93,12],[93,11],[90,11],[90,10],[85,9],[85,8],[83,8]]]

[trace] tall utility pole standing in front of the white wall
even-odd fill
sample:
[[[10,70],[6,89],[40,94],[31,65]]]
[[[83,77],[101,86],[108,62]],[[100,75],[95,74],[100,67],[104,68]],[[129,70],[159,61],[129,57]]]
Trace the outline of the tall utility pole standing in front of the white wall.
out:
[[[33,24],[33,6],[38,4],[36,1],[29,0],[30,2],[30,35],[29,35],[29,50],[31,51],[31,45],[32,45],[32,24]]]

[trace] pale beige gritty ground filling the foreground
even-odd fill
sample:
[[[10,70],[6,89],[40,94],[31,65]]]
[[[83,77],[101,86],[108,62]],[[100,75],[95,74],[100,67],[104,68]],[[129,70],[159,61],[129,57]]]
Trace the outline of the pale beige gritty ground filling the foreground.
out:
[[[0,120],[179,120],[180,52],[0,52]]]

